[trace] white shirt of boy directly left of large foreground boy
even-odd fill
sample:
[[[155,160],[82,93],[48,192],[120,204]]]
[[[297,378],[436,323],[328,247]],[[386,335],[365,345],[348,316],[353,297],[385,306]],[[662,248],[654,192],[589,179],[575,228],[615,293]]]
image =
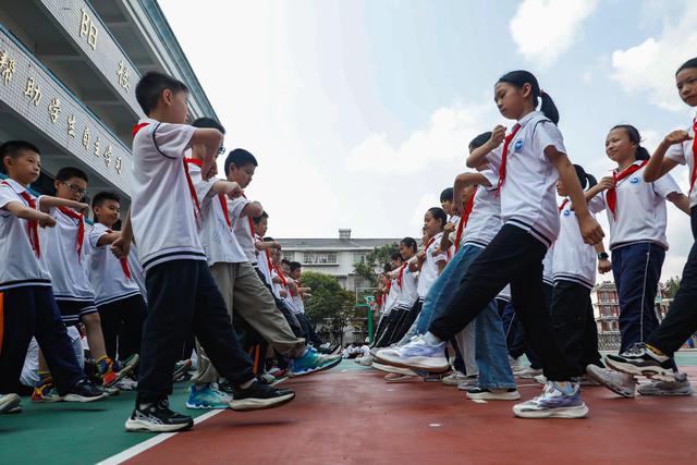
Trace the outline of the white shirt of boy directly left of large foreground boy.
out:
[[[109,245],[98,246],[99,237],[109,234],[109,228],[101,223],[95,223],[89,231],[89,245],[94,252],[87,256],[85,266],[89,282],[95,290],[95,303],[97,305],[109,304],[121,298],[131,297],[140,293],[138,283],[133,280],[133,274],[138,270],[131,270],[131,278],[126,277],[121,260],[110,249]],[[127,262],[127,261],[126,261]]]

